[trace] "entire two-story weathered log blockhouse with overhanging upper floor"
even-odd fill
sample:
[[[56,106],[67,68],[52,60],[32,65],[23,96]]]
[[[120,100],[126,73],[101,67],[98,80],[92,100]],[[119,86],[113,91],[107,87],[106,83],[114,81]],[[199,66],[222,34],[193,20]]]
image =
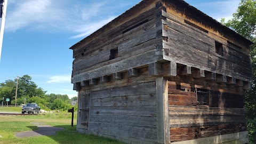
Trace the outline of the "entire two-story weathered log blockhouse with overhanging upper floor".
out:
[[[146,0],[70,47],[77,131],[126,143],[247,143],[251,41],[181,0]]]

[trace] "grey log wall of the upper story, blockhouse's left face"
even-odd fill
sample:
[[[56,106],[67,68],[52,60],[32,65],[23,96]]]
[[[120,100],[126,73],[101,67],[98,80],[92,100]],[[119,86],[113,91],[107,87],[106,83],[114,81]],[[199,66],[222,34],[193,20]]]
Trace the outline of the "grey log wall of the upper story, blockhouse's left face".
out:
[[[142,9],[131,9],[130,15],[112,22],[112,28],[101,30],[98,37],[73,50],[73,83],[156,61],[156,43],[162,41],[162,37],[156,38],[156,4],[154,0],[142,4]],[[110,57],[111,50],[118,51],[115,58]]]

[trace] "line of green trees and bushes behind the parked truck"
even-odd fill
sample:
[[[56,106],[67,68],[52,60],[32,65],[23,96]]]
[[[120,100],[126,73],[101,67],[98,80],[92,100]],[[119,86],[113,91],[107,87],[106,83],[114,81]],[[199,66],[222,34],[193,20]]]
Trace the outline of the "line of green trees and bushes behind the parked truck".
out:
[[[41,87],[38,87],[36,83],[31,81],[31,76],[23,75],[19,78],[18,89],[17,89],[17,105],[22,105],[26,103],[37,103],[41,109],[58,109],[67,110],[72,108],[70,105],[70,100],[67,94],[46,94]],[[2,102],[2,97],[4,99],[9,98],[10,104],[15,105],[15,91],[16,91],[17,81],[8,79],[3,83],[0,83],[0,102]],[[77,100],[77,97],[72,98]]]

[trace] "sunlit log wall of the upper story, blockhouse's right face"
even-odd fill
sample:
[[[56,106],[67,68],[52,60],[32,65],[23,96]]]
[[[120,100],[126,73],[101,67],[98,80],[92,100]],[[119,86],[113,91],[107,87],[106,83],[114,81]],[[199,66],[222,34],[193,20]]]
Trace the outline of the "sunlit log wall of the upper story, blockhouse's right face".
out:
[[[172,5],[172,1],[163,5],[162,47],[165,60],[251,81],[249,43],[228,39],[213,29],[211,23],[206,26],[197,21],[199,19],[191,19],[191,13],[182,11],[181,14],[179,5]],[[218,45],[221,46],[220,53],[215,48]]]

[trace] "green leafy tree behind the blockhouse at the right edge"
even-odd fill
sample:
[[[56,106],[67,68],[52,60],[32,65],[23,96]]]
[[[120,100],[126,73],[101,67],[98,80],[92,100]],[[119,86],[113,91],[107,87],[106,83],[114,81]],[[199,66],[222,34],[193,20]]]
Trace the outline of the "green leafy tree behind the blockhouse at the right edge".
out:
[[[253,84],[252,90],[245,94],[245,107],[247,113],[247,129],[251,143],[256,143],[256,0],[242,0],[233,19],[221,22],[237,31],[238,34],[254,42],[250,46],[252,58]]]

